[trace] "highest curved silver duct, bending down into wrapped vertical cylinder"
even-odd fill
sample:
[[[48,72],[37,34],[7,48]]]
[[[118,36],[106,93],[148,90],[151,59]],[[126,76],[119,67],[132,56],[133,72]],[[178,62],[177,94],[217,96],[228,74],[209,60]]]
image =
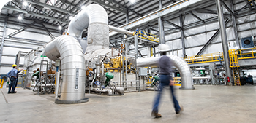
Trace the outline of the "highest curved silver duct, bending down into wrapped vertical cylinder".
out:
[[[97,49],[109,49],[108,14],[102,6],[90,4],[71,20],[67,33],[81,39],[83,29],[88,27],[88,47],[83,51],[94,52]]]

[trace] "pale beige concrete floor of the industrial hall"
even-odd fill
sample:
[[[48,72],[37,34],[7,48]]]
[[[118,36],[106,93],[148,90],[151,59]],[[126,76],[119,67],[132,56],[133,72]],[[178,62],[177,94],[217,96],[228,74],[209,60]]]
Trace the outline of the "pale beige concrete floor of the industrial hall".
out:
[[[53,94],[35,95],[21,88],[16,94],[7,94],[7,89],[0,89],[0,122],[256,122],[256,86],[195,88],[176,89],[178,101],[184,106],[179,115],[165,90],[159,119],[151,117],[153,91],[122,96],[86,94],[88,103],[65,105],[55,104]]]

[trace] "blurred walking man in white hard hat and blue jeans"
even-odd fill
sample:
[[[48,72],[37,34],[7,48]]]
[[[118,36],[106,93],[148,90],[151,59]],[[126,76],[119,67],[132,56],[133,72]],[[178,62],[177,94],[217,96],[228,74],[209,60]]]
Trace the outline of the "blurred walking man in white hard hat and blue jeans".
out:
[[[167,46],[166,44],[160,44],[159,49],[161,52],[162,57],[159,59],[159,69],[160,69],[160,90],[157,93],[157,96],[155,97],[154,104],[153,104],[153,110],[151,115],[154,116],[155,118],[162,117],[161,114],[158,113],[158,106],[159,106],[159,101],[162,95],[162,89],[165,86],[170,86],[170,93],[173,98],[173,103],[174,103],[174,108],[176,111],[176,114],[179,114],[183,108],[179,106],[178,100],[176,99],[174,93],[173,93],[173,79],[172,79],[172,63],[170,61],[170,57],[166,56],[166,52],[170,50],[170,47]]]

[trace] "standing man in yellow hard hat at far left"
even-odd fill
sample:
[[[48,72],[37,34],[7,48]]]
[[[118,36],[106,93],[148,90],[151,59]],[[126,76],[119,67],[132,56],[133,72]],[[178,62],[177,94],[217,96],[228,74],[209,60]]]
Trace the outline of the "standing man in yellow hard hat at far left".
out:
[[[15,85],[16,85],[16,80],[17,80],[17,74],[18,74],[17,65],[13,64],[12,70],[7,73],[7,76],[10,78],[8,94],[16,93]],[[11,91],[11,88],[12,88],[12,91]]]

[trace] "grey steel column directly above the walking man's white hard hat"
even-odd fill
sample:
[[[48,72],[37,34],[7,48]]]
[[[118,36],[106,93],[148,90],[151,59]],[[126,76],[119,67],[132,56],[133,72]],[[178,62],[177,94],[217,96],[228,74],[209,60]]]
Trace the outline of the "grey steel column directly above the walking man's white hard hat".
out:
[[[159,9],[162,9],[162,0],[159,0]],[[164,23],[162,22],[163,17],[158,18],[158,28],[159,28],[159,39],[160,44],[165,44],[165,31],[164,31]]]

